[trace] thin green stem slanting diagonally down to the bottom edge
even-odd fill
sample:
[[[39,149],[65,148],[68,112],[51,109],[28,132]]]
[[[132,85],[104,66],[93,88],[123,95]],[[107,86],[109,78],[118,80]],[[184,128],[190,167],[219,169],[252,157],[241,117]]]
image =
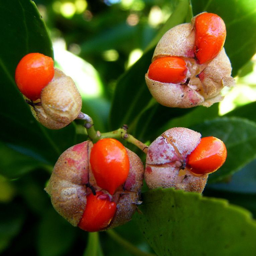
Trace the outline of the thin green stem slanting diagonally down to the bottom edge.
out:
[[[132,243],[128,242],[127,240],[121,238],[115,231],[113,230],[107,230],[106,233],[117,243],[122,245],[127,251],[132,253],[133,255],[136,256],[156,256],[155,254],[152,253],[145,253],[138,249],[136,246],[134,246]]]

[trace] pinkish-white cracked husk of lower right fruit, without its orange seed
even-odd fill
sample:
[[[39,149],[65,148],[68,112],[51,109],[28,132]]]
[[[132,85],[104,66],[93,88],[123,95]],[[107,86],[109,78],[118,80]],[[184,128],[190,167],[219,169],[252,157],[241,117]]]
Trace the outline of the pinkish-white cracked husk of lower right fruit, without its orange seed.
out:
[[[208,175],[195,176],[186,168],[187,156],[200,142],[200,133],[176,127],[167,130],[148,147],[145,181],[150,189],[174,187],[201,193]]]

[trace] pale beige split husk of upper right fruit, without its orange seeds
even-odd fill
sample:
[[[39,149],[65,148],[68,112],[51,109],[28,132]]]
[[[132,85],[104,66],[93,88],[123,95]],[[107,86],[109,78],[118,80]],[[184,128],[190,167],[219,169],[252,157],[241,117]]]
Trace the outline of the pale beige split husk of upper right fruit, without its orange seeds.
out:
[[[201,14],[202,15],[202,14]],[[166,79],[152,79],[149,72],[145,75],[146,84],[152,96],[167,107],[191,108],[209,107],[223,99],[224,86],[234,85],[231,77],[231,64],[223,44],[225,37],[218,43],[217,55],[208,61],[199,62],[196,55],[195,16],[191,23],[180,24],[168,30],[158,42],[152,63],[165,57],[179,57],[186,65],[185,78],[179,82]],[[198,30],[199,31],[199,30]],[[206,48],[204,48],[206,49]]]

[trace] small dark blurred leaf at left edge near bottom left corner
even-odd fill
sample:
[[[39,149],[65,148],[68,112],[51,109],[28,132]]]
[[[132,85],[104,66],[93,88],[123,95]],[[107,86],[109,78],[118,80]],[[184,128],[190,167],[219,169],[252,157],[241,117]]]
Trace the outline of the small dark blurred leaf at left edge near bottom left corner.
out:
[[[0,252],[20,232],[24,217],[24,210],[20,205],[0,204]]]

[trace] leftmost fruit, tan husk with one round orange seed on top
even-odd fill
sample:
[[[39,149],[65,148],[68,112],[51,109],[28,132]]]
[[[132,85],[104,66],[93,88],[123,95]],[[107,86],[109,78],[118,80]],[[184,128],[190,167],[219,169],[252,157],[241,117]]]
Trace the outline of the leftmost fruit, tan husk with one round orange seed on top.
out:
[[[80,93],[71,77],[53,67],[50,57],[25,55],[16,68],[15,81],[34,117],[45,127],[61,129],[79,115]]]

